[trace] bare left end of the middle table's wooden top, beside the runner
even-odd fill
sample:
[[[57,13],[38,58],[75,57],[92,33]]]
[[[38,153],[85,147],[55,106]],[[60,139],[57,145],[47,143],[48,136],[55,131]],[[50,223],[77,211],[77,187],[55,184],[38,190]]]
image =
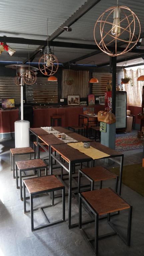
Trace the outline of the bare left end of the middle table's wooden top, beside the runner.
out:
[[[62,140],[57,138],[53,134],[39,135],[38,138],[42,140],[46,145],[65,144]]]

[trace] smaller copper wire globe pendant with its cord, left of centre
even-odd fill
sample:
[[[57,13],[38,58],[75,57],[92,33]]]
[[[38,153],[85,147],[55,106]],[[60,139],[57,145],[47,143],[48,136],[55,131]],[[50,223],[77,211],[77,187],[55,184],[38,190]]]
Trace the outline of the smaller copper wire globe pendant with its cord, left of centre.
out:
[[[48,43],[48,19],[47,19],[47,43]],[[47,53],[39,59],[39,70],[44,75],[53,75],[58,69],[58,60],[51,53],[51,48],[47,45]]]

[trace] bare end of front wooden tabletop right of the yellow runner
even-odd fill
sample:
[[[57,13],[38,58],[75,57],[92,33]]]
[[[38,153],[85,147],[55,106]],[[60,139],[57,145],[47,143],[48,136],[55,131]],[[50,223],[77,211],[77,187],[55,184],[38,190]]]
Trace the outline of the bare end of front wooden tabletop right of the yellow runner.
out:
[[[106,154],[108,154],[110,156],[123,155],[122,153],[120,153],[120,152],[118,152],[116,150],[113,150],[113,149],[111,149],[109,147],[106,147],[106,146],[104,146],[104,145],[102,145],[102,144],[100,144],[98,142],[95,142],[95,141],[92,141],[90,143],[90,145],[91,145],[91,147],[96,148],[96,149],[98,149],[98,150],[100,150],[100,151],[102,151],[102,152],[104,152],[104,153],[106,153]]]

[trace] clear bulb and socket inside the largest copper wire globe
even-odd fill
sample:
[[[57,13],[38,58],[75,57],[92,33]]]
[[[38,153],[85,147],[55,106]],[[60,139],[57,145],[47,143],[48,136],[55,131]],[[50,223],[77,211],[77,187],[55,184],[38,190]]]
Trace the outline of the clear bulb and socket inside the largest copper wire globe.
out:
[[[112,31],[111,31],[113,36],[119,36],[121,33],[120,18],[121,18],[121,10],[117,6],[114,9],[114,14],[113,14],[113,25],[112,25]]]

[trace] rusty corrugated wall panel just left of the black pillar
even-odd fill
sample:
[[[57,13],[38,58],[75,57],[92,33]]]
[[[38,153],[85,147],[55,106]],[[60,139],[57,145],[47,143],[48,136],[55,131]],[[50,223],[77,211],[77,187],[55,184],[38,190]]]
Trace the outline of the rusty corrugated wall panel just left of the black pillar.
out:
[[[92,93],[96,96],[104,96],[106,92],[107,81],[112,80],[112,74],[110,73],[93,73],[93,77],[98,79],[97,84],[93,84]]]

